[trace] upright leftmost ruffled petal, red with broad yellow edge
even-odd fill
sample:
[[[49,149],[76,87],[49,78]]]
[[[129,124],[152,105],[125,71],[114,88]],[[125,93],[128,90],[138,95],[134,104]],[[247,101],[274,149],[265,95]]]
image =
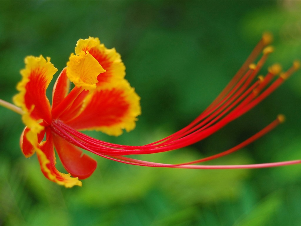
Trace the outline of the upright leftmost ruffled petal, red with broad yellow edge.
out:
[[[17,85],[20,91],[14,96],[14,103],[21,107],[22,120],[35,133],[43,130],[39,123],[51,123],[50,103],[46,89],[57,69],[50,63],[50,58],[28,56],[25,58],[25,69],[21,70],[22,80]]]

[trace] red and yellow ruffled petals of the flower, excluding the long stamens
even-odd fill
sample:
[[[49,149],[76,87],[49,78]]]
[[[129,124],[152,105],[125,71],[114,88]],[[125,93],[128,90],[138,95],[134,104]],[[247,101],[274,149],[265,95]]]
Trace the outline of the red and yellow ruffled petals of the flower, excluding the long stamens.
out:
[[[46,61],[42,56],[28,56],[25,64],[17,85],[19,93],[13,99],[22,108],[26,125],[20,139],[22,152],[26,157],[36,152],[41,170],[49,180],[66,187],[81,185],[79,179],[93,173],[96,161],[54,133],[54,122],[117,136],[123,129],[134,129],[141,114],[140,98],[124,79],[125,66],[120,55],[115,49],[105,48],[98,38],[77,42],[75,54],[71,54],[67,67],[56,80],[51,105],[45,94],[57,69],[50,58]],[[70,93],[69,80],[75,85]],[[54,147],[73,177],[55,168]]]

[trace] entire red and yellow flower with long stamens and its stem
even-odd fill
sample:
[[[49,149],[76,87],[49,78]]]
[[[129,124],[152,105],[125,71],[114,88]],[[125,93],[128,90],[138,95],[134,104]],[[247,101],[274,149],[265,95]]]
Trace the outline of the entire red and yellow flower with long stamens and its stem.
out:
[[[256,79],[268,55],[273,52],[273,48],[267,46],[271,41],[270,34],[262,36],[230,83],[188,126],[143,146],[107,143],[79,132],[100,130],[118,136],[123,130],[134,129],[141,114],[140,97],[124,79],[125,66],[120,55],[115,49],[105,48],[98,38],[79,39],[75,54],[71,54],[67,67],[54,84],[51,105],[45,94],[57,69],[50,63],[50,58],[46,60],[42,56],[25,58],[26,67],[21,70],[22,80],[17,85],[19,93],[13,99],[20,108],[1,99],[0,105],[22,115],[26,125],[20,138],[23,154],[30,157],[36,152],[45,177],[65,187],[81,186],[79,179],[89,177],[96,168],[96,161],[83,154],[81,149],[117,162],[151,167],[229,169],[299,164],[301,160],[253,165],[193,165],[228,155],[252,143],[283,122],[283,115],[278,115],[272,123],[237,146],[192,162],[163,164],[126,157],[189,146],[259,104],[299,68],[296,61],[286,72],[281,72],[281,66],[274,64],[268,68],[265,77]],[[263,52],[262,57],[254,64],[260,52]],[[70,81],[74,88],[69,92]],[[68,174],[56,169],[54,148]]]

